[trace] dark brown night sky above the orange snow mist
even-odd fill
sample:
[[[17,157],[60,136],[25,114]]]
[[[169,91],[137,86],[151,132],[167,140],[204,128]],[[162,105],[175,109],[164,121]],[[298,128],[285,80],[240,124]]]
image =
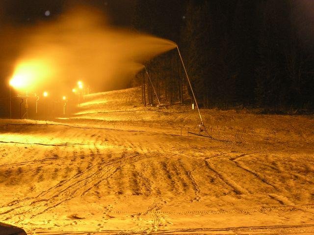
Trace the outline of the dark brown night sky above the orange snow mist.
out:
[[[10,24],[32,24],[38,20],[50,20],[73,5],[84,4],[104,11],[110,23],[129,26],[132,21],[135,0],[0,0],[2,21]],[[50,11],[46,16],[45,12]]]

